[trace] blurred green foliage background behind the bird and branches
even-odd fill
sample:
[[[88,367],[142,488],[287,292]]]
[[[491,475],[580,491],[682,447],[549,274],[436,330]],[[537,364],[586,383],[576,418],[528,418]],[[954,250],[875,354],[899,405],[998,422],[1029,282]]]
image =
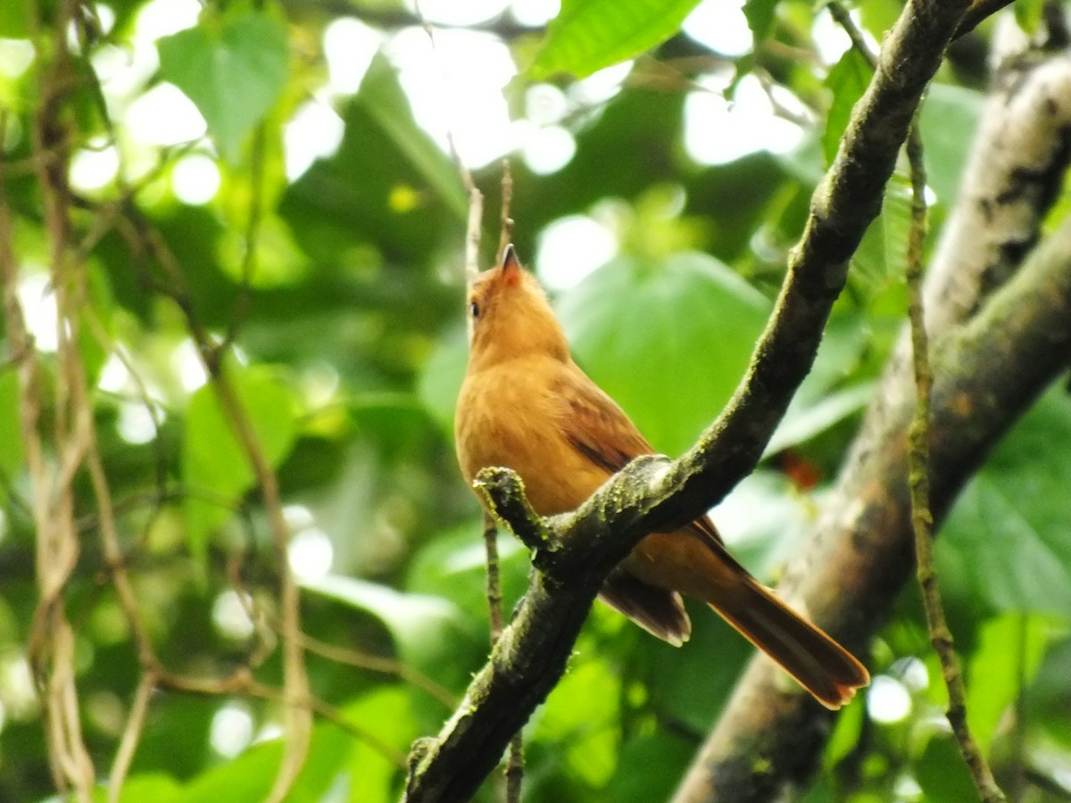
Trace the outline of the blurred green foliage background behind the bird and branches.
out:
[[[553,285],[578,362],[669,454],[694,441],[736,387],[869,79],[858,56],[842,56],[843,43],[831,55],[831,22],[812,3],[748,0],[740,20],[757,45],[742,55],[679,32],[696,4],[563,0],[544,29],[517,3],[515,15],[499,10],[450,31],[472,36],[473,47],[509,48],[513,131],[568,143],[549,168],[523,147],[512,152],[515,242]],[[72,80],[48,100],[62,104],[73,152],[60,167],[74,187],[72,258],[88,287],[79,353],[147,634],[176,673],[223,677],[256,663],[260,680],[278,682],[277,651],[261,650],[277,613],[262,495],[205,382],[196,322],[211,342],[232,336],[227,366],[293,533],[303,628],[335,648],[307,654],[313,692],[335,715],[317,718],[290,800],[394,800],[410,743],[440,727],[486,655],[479,517],[455,468],[451,423],[466,352],[467,203],[441,134],[465,111],[441,109],[428,133],[410,107],[403,44],[423,32],[401,2],[191,5],[79,6],[70,35],[55,36],[57,3],[0,2],[0,201],[12,216],[21,303],[47,390],[58,377],[47,269],[55,231],[34,126],[49,71],[66,62]],[[880,40],[900,5],[864,0],[858,17]],[[1038,25],[1040,14],[1040,1],[1016,4],[1022,25]],[[371,36],[357,35],[355,20]],[[984,54],[990,35],[983,26],[969,42]],[[331,36],[361,64],[342,76],[347,89],[328,60]],[[935,236],[980,106],[976,62],[956,52],[922,113]],[[597,72],[633,57],[628,69]],[[181,94],[161,94],[175,87]],[[723,93],[743,106],[751,91],[754,104],[756,90],[759,122],[728,106],[718,123],[695,112]],[[154,96],[165,102],[150,105]],[[202,123],[188,137],[146,133],[147,117],[170,120],[191,103]],[[315,153],[291,126],[310,107],[329,112],[316,118],[318,133],[338,133]],[[759,136],[774,121],[795,136],[775,153]],[[712,161],[696,155],[690,136],[757,143]],[[295,161],[302,153],[305,162]],[[192,171],[196,192],[182,188]],[[499,163],[476,172],[494,212]],[[902,177],[889,185],[770,459],[718,516],[736,551],[768,578],[813,520],[902,323],[905,186]],[[568,221],[594,233],[563,237]],[[147,232],[177,275],[153,256]],[[485,234],[489,255],[497,225]],[[597,234],[612,245],[593,263],[586,255]],[[55,788],[27,663],[37,590],[19,354],[6,339],[3,347],[0,800],[33,801]],[[45,456],[55,460],[62,435],[48,431],[45,413]],[[967,487],[938,545],[971,716],[1022,800],[1056,799],[1071,767],[1068,454],[1071,400],[1057,388]],[[69,616],[85,739],[106,778],[138,654],[87,476],[75,491],[81,552]],[[508,534],[500,551],[509,609],[528,561]],[[692,615],[693,639],[675,650],[595,607],[569,673],[527,728],[527,800],[670,793],[750,654],[716,616]],[[868,657],[873,693],[842,714],[808,800],[969,799],[921,621],[909,590]],[[280,761],[280,718],[271,700],[155,693],[121,800],[260,800]],[[492,786],[481,799],[492,799]]]

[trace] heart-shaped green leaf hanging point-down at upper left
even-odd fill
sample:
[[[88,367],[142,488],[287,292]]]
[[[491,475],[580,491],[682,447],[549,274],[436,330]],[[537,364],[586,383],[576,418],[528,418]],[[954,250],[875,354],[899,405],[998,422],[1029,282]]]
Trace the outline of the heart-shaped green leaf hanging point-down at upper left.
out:
[[[262,12],[225,18],[157,42],[161,75],[194,102],[220,153],[237,163],[246,135],[286,86],[286,30]]]

